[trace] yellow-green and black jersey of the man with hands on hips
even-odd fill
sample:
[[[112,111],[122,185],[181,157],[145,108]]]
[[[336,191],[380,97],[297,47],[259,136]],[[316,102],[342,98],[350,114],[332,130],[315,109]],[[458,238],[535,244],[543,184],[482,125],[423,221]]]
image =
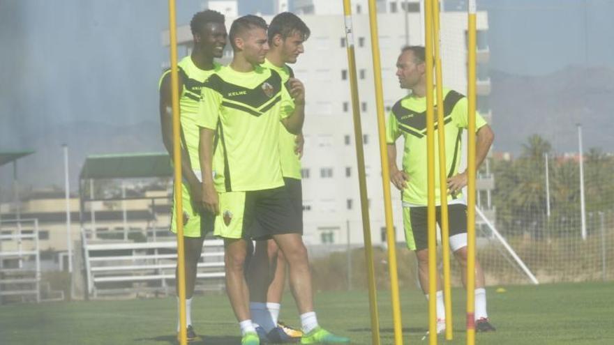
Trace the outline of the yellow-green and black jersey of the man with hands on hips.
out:
[[[435,103],[437,101],[435,100]],[[437,107],[437,104],[435,104]],[[437,153],[437,108],[435,108],[435,203],[440,204],[439,159]],[[461,167],[461,140],[463,129],[467,128],[467,98],[456,91],[444,89],[444,123],[446,139],[446,171],[451,177],[458,174]],[[476,130],[486,125],[479,114],[475,117]],[[427,204],[427,166],[426,166],[426,97],[407,95],[402,98],[388,116],[386,137],[388,144],[394,144],[403,135],[403,171],[409,176],[407,187],[403,190],[403,202],[410,206]],[[447,197],[448,204],[463,202],[460,193]]]

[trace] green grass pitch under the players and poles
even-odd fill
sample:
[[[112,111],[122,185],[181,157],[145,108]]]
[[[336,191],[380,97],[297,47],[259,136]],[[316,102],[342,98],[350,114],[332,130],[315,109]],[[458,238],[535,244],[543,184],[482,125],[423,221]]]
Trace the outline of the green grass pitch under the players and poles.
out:
[[[612,283],[505,286],[504,293],[488,289],[488,312],[497,332],[478,334],[477,344],[614,344],[614,286]],[[453,291],[454,340],[465,344],[465,294]],[[366,291],[323,292],[315,296],[324,327],[351,337],[352,344],[370,344]],[[390,295],[381,291],[382,344],[393,343]],[[239,344],[238,326],[223,294],[197,296],[193,319],[204,335],[197,344]],[[403,340],[426,344],[426,300],[417,291],[401,291]],[[0,306],[2,345],[175,344],[175,298],[54,302]],[[297,325],[290,296],[285,296],[281,319]]]

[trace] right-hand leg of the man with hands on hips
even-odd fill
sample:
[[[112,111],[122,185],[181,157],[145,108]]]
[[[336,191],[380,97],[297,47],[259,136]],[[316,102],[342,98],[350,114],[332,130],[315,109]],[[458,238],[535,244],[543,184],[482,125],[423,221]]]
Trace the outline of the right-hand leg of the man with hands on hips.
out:
[[[449,206],[450,249],[454,258],[461,266],[463,286],[467,287],[467,207],[465,205]],[[484,270],[479,261],[475,260],[475,321],[478,332],[495,330],[488,320],[486,312],[486,289]]]

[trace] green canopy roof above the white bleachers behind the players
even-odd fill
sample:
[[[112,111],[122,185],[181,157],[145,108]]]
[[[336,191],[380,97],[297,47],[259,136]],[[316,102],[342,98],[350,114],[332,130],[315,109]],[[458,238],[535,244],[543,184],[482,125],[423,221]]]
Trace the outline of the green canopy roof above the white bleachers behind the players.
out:
[[[126,153],[89,155],[81,169],[80,179],[149,178],[172,175],[168,153]]]

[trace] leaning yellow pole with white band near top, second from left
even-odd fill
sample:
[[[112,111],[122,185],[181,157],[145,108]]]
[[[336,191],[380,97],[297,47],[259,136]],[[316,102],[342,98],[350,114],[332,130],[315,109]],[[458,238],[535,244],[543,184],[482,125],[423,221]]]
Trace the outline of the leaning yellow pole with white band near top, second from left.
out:
[[[377,293],[375,287],[375,268],[373,267],[373,246],[371,245],[371,229],[369,220],[369,201],[365,174],[364,149],[362,141],[362,125],[360,119],[360,99],[356,75],[356,54],[354,53],[354,29],[352,27],[352,6],[350,0],[343,0],[345,15],[345,40],[347,47],[347,65],[350,71],[350,91],[352,93],[352,114],[354,116],[354,140],[356,141],[356,160],[358,167],[358,183],[360,190],[360,206],[362,215],[363,236],[365,244],[365,259],[367,263],[367,278],[369,289],[369,312],[371,316],[371,344],[380,345],[380,320],[377,314]]]

